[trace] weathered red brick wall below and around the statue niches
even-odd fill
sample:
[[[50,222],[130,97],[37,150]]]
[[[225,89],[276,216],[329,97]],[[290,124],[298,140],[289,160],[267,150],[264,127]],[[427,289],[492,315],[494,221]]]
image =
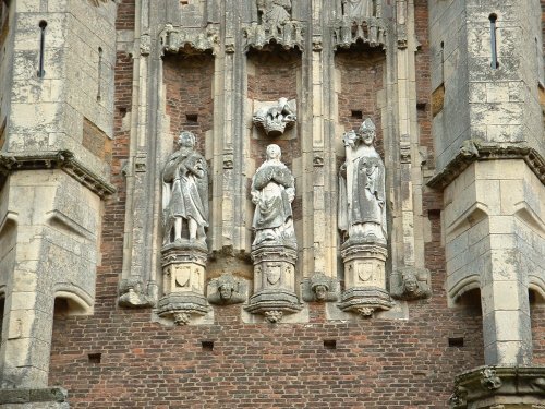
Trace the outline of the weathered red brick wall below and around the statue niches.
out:
[[[423,7],[425,1],[416,1],[417,13]],[[425,31],[426,24],[419,24],[419,36],[424,36]],[[279,71],[279,63],[275,64],[274,59],[269,62],[256,64],[259,75],[249,77],[250,97],[271,100],[279,96],[295,97],[295,87],[286,83],[296,82],[295,70]],[[419,68],[425,69],[425,63],[422,58]],[[166,79],[170,73],[168,64]],[[299,64],[295,61],[292,67],[299,69]],[[182,71],[172,70],[172,74],[181,75]],[[310,304],[307,324],[251,325],[240,321],[241,306],[233,305],[215,308],[214,325],[165,327],[150,322],[149,310],[117,306],[125,202],[121,166],[129,149],[129,132],[122,127],[122,118],[131,109],[130,56],[118,56],[116,72],[112,182],[118,192],[108,199],[105,208],[95,314],[56,318],[49,384],[68,388],[73,408],[447,407],[455,375],[483,364],[483,342],[479,309],[446,305],[441,200],[437,194],[425,196],[433,239],[426,243],[425,257],[433,275],[434,296],[410,302],[408,321],[326,322],[324,305]],[[257,82],[262,75],[272,80],[278,76],[278,81],[274,85],[267,82],[268,88]],[[354,81],[350,86],[356,86],[355,81],[360,80],[350,81]],[[375,91],[382,87],[365,81]],[[382,74],[377,74],[376,81],[382,81]],[[428,86],[424,74],[417,81],[419,89]],[[172,85],[169,81],[167,84]],[[202,89],[201,85],[198,88]],[[183,106],[182,97],[175,97],[181,91],[171,91],[172,100]],[[347,97],[344,105],[339,106],[347,129],[361,122],[352,123],[349,118],[350,110],[355,109],[352,104],[361,107],[364,115],[368,110],[376,123],[380,123],[365,97],[359,93],[350,95],[352,99]],[[169,109],[174,118],[174,110]],[[419,120],[421,130],[429,125],[428,115]],[[172,120],[172,125],[179,127],[180,122]],[[263,146],[256,144],[252,151],[256,158],[270,141],[258,143]],[[284,145],[288,160],[292,152],[296,151]],[[543,317],[537,322],[543,328]],[[448,337],[452,336],[463,336],[464,346],[449,347]],[[213,340],[214,350],[203,350],[203,340]],[[324,340],[336,340],[337,348],[325,348]],[[538,342],[543,351],[543,342]],[[89,362],[89,353],[101,353],[100,363]]]

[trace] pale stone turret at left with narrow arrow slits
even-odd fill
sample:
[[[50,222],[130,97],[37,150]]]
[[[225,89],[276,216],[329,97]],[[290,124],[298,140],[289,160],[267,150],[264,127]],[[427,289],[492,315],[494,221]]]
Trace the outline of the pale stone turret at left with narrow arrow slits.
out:
[[[0,378],[29,402],[47,387],[56,300],[69,314],[95,303],[101,200],[113,192],[117,7],[1,3]],[[36,399],[64,396],[50,395]]]

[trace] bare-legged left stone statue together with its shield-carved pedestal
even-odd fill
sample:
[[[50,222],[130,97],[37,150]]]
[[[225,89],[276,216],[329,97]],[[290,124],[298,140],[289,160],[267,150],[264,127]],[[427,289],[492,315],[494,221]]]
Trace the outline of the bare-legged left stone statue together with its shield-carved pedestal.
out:
[[[179,149],[169,156],[161,176],[165,296],[158,314],[184,325],[192,315],[209,310],[204,294],[208,171],[204,157],[195,151],[193,133],[183,131],[177,142]]]

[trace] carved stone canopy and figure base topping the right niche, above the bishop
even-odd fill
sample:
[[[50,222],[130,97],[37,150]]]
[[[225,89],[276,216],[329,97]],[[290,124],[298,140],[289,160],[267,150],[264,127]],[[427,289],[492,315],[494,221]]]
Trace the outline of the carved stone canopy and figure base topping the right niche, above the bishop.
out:
[[[371,47],[386,46],[386,25],[380,0],[342,0],[342,17],[332,29],[334,48],[350,48],[361,41]]]

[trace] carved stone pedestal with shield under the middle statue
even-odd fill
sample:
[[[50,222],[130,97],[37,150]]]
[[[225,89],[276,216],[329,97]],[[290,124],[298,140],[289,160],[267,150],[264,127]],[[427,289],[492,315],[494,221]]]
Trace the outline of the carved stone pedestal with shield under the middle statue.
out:
[[[296,249],[283,245],[259,245],[252,251],[254,294],[244,306],[247,312],[276,323],[283,314],[301,311],[295,294],[296,254]]]

